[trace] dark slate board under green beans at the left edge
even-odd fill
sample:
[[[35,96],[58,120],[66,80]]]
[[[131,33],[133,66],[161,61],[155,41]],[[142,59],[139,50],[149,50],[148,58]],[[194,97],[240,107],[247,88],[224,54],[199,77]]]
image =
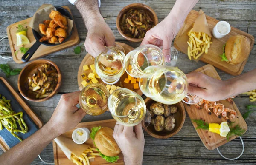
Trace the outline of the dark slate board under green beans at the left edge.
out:
[[[26,114],[26,112],[23,110],[21,105],[17,102],[15,97],[9,91],[9,89],[7,88],[5,83],[3,83],[3,80],[0,80],[0,94],[5,96],[6,100],[11,100],[10,103],[11,103],[13,111],[15,111],[15,112],[22,111],[23,112],[23,119],[26,122],[26,125],[29,128],[29,131],[26,134],[17,133],[17,135],[21,139],[24,140],[24,139],[28,138],[30,135],[34,134],[38,130],[37,125],[35,125],[35,123],[32,121],[32,119]],[[17,139],[16,137],[13,137],[12,134],[9,131],[7,131],[7,129],[5,127],[3,127],[3,130],[0,131],[0,136],[6,142],[6,145],[9,146],[9,148],[14,147],[15,145],[17,145],[20,142],[20,140]]]

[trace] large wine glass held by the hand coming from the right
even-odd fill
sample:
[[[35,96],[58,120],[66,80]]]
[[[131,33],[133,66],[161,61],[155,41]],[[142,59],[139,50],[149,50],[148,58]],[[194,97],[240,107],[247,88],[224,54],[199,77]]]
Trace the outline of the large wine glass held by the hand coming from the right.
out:
[[[180,69],[172,66],[149,66],[143,73],[139,86],[147,97],[163,104],[176,104],[185,97],[191,102],[191,95],[187,94],[187,77]],[[194,101],[201,100],[200,97],[194,97]]]

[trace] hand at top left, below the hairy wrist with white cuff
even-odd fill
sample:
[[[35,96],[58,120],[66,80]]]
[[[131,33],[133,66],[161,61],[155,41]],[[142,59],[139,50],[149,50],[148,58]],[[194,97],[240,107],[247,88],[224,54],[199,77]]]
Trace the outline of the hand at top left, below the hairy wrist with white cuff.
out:
[[[87,29],[84,46],[93,57],[98,56],[105,49],[105,46],[116,45],[115,36],[103,18],[102,20],[94,20],[87,26]]]

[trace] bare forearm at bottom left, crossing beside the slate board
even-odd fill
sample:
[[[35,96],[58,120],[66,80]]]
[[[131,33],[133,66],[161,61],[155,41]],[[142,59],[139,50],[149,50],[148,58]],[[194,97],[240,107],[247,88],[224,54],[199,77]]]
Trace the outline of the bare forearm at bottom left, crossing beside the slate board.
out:
[[[9,151],[0,156],[0,164],[28,165],[57,136],[58,134],[46,124],[40,130],[35,132],[35,134],[15,145]]]

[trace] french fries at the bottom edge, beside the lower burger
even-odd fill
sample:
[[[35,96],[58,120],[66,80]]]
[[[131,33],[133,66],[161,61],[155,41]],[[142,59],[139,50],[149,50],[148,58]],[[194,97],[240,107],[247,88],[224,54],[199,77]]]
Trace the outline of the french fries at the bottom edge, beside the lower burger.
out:
[[[97,148],[89,147],[79,157],[72,153],[71,160],[76,165],[90,165],[89,159],[99,156],[99,153],[93,153],[93,151],[97,151]],[[87,154],[90,154],[91,156],[87,156]]]

